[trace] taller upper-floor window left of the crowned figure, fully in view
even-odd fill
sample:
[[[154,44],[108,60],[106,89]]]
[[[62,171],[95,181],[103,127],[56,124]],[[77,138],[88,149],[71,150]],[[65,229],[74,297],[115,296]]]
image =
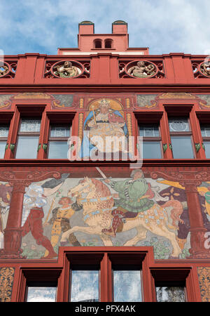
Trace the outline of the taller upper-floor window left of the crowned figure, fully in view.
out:
[[[21,119],[15,158],[36,159],[40,126],[40,118]]]

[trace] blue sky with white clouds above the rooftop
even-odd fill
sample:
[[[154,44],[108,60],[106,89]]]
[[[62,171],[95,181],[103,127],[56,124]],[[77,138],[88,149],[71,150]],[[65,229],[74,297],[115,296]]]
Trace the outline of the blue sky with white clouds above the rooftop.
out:
[[[130,47],[151,54],[210,54],[209,0],[0,0],[0,49],[57,54],[77,47],[78,23],[94,22],[95,33],[111,33],[111,23],[128,23]]]

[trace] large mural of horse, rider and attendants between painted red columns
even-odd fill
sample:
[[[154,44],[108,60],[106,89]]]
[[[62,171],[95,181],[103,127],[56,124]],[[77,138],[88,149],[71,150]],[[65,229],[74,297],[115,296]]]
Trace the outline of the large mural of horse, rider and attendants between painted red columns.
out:
[[[59,246],[153,246],[155,258],[189,256],[185,191],[141,169],[130,178],[49,178],[26,187],[22,256],[56,258]]]

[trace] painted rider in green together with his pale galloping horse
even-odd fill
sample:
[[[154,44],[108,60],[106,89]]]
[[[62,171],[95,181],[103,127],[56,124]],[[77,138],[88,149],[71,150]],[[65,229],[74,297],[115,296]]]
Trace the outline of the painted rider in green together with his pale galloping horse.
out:
[[[120,181],[116,181],[116,183],[106,181],[116,186],[118,191],[120,191],[120,185],[122,185],[122,192],[112,193],[109,186],[103,183],[102,180],[88,177],[83,178],[76,187],[71,188],[69,196],[76,197],[78,204],[83,206],[83,220],[86,225],[74,226],[67,230],[62,234],[60,242],[66,243],[69,235],[73,232],[85,232],[90,235],[99,235],[105,246],[113,246],[111,234],[107,235],[104,232],[114,231],[119,233],[136,228],[137,235],[125,242],[124,246],[134,246],[137,242],[145,239],[146,233],[150,231],[155,235],[169,239],[173,248],[172,257],[179,257],[181,247],[176,239],[177,230],[169,225],[172,220],[169,213],[174,209],[173,201],[170,203],[169,198],[165,198],[169,208],[166,211],[165,204],[160,206],[156,202],[158,199],[163,199],[163,197],[158,196],[158,192],[154,192],[150,185],[146,183],[143,173],[135,171],[132,173],[132,177],[132,179],[123,180],[122,183]],[[136,185],[137,187],[134,189]],[[134,204],[131,197],[136,200]],[[119,201],[116,202],[116,199],[119,199]],[[127,203],[127,200],[130,202]],[[180,208],[183,207],[181,202],[177,201],[177,203],[180,204]],[[113,210],[122,211],[122,213],[115,213]],[[127,217],[125,218],[126,213]],[[121,215],[121,218],[119,215]],[[120,218],[118,228],[116,228],[117,225],[113,227],[115,216]],[[121,220],[122,217],[125,218],[124,221]]]

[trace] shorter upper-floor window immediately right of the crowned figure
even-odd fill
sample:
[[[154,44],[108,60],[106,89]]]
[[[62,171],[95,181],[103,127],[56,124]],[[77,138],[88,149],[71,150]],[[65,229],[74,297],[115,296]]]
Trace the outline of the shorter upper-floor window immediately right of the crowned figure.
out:
[[[158,124],[139,124],[139,136],[143,138],[143,159],[162,158],[161,137]]]

